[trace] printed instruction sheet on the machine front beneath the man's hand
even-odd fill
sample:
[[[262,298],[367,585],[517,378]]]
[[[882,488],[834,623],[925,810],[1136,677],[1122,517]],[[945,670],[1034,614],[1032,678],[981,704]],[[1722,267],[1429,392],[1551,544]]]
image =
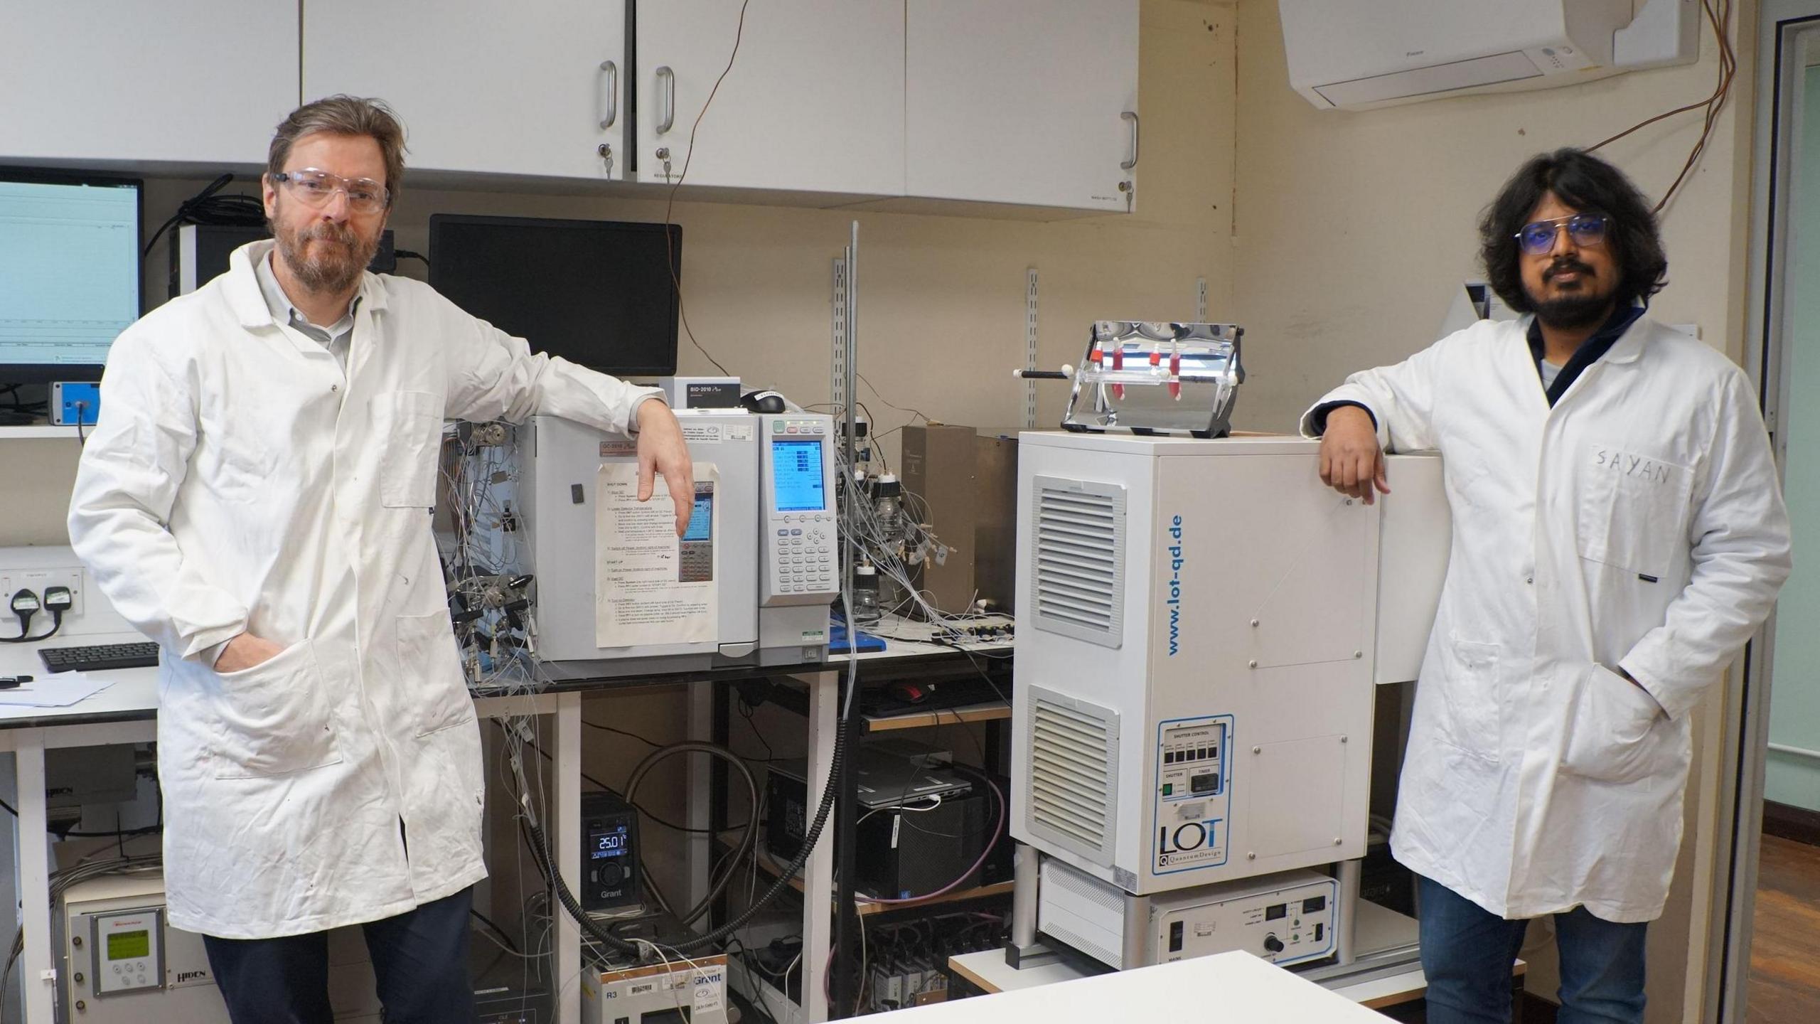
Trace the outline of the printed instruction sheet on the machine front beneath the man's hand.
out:
[[[659,476],[639,501],[639,466],[606,463],[595,476],[593,627],[601,647],[704,643],[719,636],[721,472],[695,463],[695,508],[677,539],[675,501]]]

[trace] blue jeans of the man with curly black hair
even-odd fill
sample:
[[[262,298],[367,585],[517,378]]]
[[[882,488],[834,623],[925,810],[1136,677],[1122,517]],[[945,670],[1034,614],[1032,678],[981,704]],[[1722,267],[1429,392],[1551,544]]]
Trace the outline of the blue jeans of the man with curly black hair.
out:
[[[1527,920],[1505,920],[1432,878],[1421,878],[1421,971],[1429,1024],[1509,1024],[1511,964]],[[1643,929],[1585,907],[1554,915],[1562,955],[1560,1024],[1642,1024]]]

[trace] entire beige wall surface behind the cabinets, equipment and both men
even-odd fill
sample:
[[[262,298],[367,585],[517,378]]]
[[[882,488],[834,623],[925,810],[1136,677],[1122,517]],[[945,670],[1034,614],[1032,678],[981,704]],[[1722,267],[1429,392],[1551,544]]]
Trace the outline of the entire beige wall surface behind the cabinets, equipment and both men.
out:
[[[1749,5],[1740,5],[1749,9]],[[1143,164],[1138,215],[1054,224],[859,213],[861,372],[883,399],[861,399],[890,430],[930,417],[1021,423],[1025,268],[1041,271],[1045,364],[1074,363],[1096,317],[1187,319],[1194,282],[1208,313],[1247,328],[1247,383],[1238,421],[1287,430],[1347,372],[1401,359],[1434,339],[1449,286],[1478,273],[1474,220],[1516,164],[1534,151],[1587,144],[1700,98],[1714,77],[1713,40],[1696,67],[1565,89],[1472,97],[1372,113],[1316,111],[1289,89],[1272,0],[1143,0]],[[1749,31],[1736,38],[1751,38]],[[1238,46],[1238,49],[1236,49]],[[1243,60],[1239,60],[1243,56]],[[1749,67],[1738,77],[1747,93]],[[1742,352],[1747,126],[1734,100],[1705,159],[1667,211],[1671,288],[1658,317],[1696,323],[1707,341]],[[410,111],[404,111],[406,118]],[[1693,144],[1698,115],[1653,126],[1607,149],[1645,191],[1663,189]],[[202,182],[153,182],[157,224]],[[1236,200],[1236,208],[1234,208]],[[426,248],[433,211],[653,220],[662,204],[601,197],[477,191],[404,193],[393,226],[402,248]],[[797,401],[828,395],[830,261],[841,211],[682,202],[684,293],[697,339],[750,384]],[[162,257],[149,281],[162,290]],[[420,273],[404,264],[406,273]],[[535,341],[535,339],[533,339]],[[708,370],[688,341],[682,370]],[[1041,394],[1039,423],[1061,410]],[[888,399],[888,401],[886,401]],[[890,404],[888,404],[890,403]],[[895,445],[886,448],[895,456]],[[62,508],[71,441],[0,445],[0,545],[66,543]],[[937,525],[939,528],[939,525]],[[650,694],[637,718],[679,712]],[[1709,716],[1711,722],[1711,716]],[[1714,743],[1700,756],[1693,820],[1711,811]],[[592,769],[621,782],[633,749],[597,749]],[[675,796],[672,793],[672,796]],[[1707,818],[1702,818],[1707,820]],[[1702,835],[1709,829],[1700,827]],[[1669,915],[1651,938],[1651,1020],[1678,1020],[1698,995],[1709,851],[1684,849]],[[1532,989],[1552,993],[1538,964]]]

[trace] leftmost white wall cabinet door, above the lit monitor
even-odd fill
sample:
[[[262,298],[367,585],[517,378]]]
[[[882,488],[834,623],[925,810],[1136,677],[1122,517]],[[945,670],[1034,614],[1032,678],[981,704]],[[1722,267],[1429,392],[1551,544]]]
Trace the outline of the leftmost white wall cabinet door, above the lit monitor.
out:
[[[297,0],[0,4],[0,160],[264,164]]]

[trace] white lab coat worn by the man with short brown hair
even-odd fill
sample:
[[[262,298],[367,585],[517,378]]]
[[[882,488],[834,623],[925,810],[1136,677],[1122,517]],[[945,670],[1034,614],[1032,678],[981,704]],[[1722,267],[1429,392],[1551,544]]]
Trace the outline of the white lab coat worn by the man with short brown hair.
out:
[[[273,324],[251,262],[269,250],[237,250],[113,344],[69,507],[102,592],[166,650],[171,924],[226,938],[377,920],[486,876],[480,731],[430,530],[442,421],[626,432],[653,394],[371,273],[344,377]],[[288,647],[202,663],[242,630]]]

